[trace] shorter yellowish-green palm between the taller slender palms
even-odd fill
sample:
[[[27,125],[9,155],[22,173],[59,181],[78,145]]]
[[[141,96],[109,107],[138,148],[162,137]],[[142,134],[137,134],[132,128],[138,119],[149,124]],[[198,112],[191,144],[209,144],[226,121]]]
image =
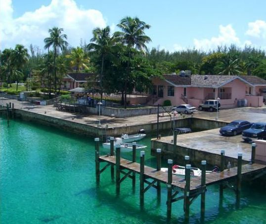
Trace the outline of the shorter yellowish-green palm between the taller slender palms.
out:
[[[67,58],[70,58],[70,65],[72,68],[75,68],[76,75],[80,71],[80,69],[87,68],[87,64],[89,63],[89,57],[84,52],[84,50],[81,47],[73,48],[70,55],[67,55]]]

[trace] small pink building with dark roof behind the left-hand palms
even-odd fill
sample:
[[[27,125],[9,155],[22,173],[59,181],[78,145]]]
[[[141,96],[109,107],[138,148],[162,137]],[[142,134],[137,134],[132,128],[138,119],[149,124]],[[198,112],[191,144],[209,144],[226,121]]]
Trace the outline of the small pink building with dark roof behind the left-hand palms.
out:
[[[72,90],[80,87],[81,84],[87,83],[93,73],[68,73],[62,82],[62,90]]]

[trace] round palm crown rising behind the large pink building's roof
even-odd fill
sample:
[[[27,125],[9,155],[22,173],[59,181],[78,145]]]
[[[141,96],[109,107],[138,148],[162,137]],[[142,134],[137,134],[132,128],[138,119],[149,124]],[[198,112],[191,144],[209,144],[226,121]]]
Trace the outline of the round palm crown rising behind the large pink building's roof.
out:
[[[221,62],[216,66],[219,75],[239,75],[241,67],[239,65],[239,58],[233,58],[227,54]]]

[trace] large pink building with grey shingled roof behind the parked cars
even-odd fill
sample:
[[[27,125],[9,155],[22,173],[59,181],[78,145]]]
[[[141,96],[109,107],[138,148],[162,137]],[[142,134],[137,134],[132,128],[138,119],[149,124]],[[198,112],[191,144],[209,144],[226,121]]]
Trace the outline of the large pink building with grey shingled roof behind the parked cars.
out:
[[[222,108],[237,106],[246,99],[247,106],[262,106],[266,98],[266,80],[257,76],[220,75],[164,75],[154,78],[153,94],[149,105],[163,104],[171,100],[172,105],[191,104],[198,106],[203,100],[220,98]]]

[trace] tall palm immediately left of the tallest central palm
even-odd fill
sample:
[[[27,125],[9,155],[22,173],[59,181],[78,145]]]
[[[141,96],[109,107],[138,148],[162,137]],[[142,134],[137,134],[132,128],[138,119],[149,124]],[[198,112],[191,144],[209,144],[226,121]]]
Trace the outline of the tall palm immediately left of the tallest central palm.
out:
[[[116,49],[117,38],[114,35],[110,34],[110,27],[107,26],[103,29],[99,27],[95,28],[92,31],[93,38],[90,39],[89,45],[87,45],[89,50],[92,50],[94,53],[98,54],[101,58],[101,71],[100,71],[100,93],[102,100],[102,79],[104,77],[104,61],[107,56],[112,56],[114,50]]]

